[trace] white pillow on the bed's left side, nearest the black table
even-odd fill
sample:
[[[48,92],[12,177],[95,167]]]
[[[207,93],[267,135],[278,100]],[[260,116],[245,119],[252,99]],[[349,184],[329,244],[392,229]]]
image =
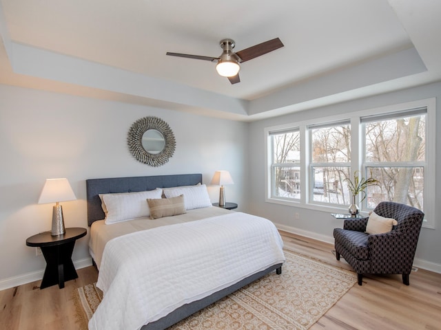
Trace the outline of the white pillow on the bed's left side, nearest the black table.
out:
[[[105,204],[103,210],[107,210],[105,224],[149,217],[150,209],[147,198],[161,198],[161,195],[161,189],[100,195],[101,201]]]

